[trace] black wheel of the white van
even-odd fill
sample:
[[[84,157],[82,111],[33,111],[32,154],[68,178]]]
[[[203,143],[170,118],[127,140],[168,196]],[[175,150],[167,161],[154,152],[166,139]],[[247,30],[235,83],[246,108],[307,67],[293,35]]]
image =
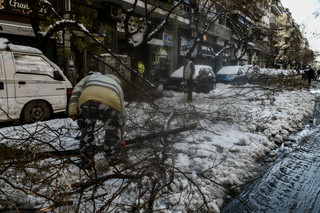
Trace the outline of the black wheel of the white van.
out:
[[[43,121],[50,117],[48,105],[42,101],[33,101],[27,104],[22,113],[24,123]]]

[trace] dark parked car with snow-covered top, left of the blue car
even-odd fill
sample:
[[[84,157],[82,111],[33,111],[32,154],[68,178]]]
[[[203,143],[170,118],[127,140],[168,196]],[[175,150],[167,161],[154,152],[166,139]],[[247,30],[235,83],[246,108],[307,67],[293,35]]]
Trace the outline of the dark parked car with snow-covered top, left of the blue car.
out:
[[[210,66],[195,65],[194,91],[207,93],[216,88],[216,76]],[[186,88],[183,80],[183,66],[174,71],[164,84],[164,89],[182,91]]]

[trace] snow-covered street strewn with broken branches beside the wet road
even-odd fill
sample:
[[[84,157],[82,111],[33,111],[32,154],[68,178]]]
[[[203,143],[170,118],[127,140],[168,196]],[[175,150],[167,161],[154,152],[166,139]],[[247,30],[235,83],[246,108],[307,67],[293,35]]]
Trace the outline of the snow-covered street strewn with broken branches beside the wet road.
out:
[[[26,178],[23,172],[6,167],[8,161],[1,161],[1,170],[5,171],[0,178],[1,190],[21,206],[27,204],[40,209],[55,204],[58,195],[63,194],[65,201],[73,201],[68,209],[78,208],[83,212],[99,209],[102,212],[127,212],[133,208],[142,212],[148,208],[167,213],[220,212],[225,198],[239,192],[240,187],[261,170],[257,163],[259,158],[279,146],[283,149],[290,146],[289,135],[302,130],[305,121],[312,118],[314,99],[315,95],[308,89],[280,91],[252,85],[231,87],[218,84],[209,94],[194,93],[193,102],[187,104],[183,93],[164,91],[163,97],[155,102],[160,108],[158,111],[146,103],[131,103],[127,107],[126,137],[195,122],[198,123],[196,129],[128,145],[131,169],[119,167],[118,176],[104,179],[98,186],[90,185],[82,191],[82,196],[77,194],[78,191],[70,193],[80,179],[88,183],[114,173],[114,169],[101,169],[106,162],[99,154],[96,155],[96,165],[100,167],[94,176],[86,175],[73,165],[72,161],[77,157],[69,158],[70,161],[68,158],[46,158],[36,165],[29,165],[28,175],[42,175],[46,180],[55,180],[53,182],[38,182],[36,178],[33,183],[23,182]],[[1,128],[0,132],[1,143],[15,148],[28,147],[34,152],[78,146],[75,139],[77,124],[68,118]],[[97,132],[97,144],[103,136],[103,132]],[[39,172],[46,166],[51,169],[45,174]],[[119,174],[143,176],[132,181]],[[8,181],[26,187],[30,194],[21,196],[26,192]],[[123,188],[126,184],[127,187]],[[55,193],[57,191],[59,193]],[[112,197],[115,194],[117,196]],[[6,200],[5,197],[1,199]],[[149,206],[150,199],[153,199],[152,207]],[[0,209],[8,208],[9,203],[1,201]],[[66,207],[56,207],[56,211],[62,208]]]

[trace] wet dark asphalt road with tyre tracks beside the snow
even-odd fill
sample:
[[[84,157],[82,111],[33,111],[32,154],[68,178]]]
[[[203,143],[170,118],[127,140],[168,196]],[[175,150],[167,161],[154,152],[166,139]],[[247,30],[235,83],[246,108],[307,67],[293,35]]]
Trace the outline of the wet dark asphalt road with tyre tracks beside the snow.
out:
[[[320,212],[320,101],[317,116],[292,148],[284,151],[256,181],[246,185],[222,213]],[[317,119],[319,118],[319,119]]]

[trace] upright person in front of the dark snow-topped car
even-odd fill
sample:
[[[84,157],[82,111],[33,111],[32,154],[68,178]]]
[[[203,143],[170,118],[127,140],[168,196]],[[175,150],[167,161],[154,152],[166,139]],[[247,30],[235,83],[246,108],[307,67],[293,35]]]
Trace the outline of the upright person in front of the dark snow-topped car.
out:
[[[191,60],[191,56],[187,55],[185,60],[186,61],[183,68],[183,79],[187,82],[187,100],[188,102],[191,102],[195,78],[195,67],[193,61]]]

